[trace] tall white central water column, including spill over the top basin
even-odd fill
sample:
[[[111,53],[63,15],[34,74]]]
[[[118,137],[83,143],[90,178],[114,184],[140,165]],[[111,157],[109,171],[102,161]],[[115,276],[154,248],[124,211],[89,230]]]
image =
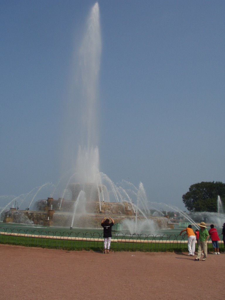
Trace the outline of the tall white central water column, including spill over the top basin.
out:
[[[99,154],[98,154],[98,74],[101,56],[101,33],[99,21],[99,7],[96,2],[88,17],[86,30],[78,54],[76,86],[79,87],[81,103],[80,129],[82,135],[76,159],[75,182],[70,185],[72,198],[74,194],[85,192],[85,201],[91,200],[91,195],[100,195],[99,184]],[[74,98],[76,101],[76,98]],[[87,184],[88,183],[88,184]],[[77,190],[76,190],[77,188]],[[91,195],[88,195],[91,194]],[[76,199],[74,199],[76,200]],[[98,199],[95,199],[99,201]],[[93,200],[92,200],[93,201]],[[101,203],[99,201],[99,211]],[[85,205],[84,205],[85,206]]]

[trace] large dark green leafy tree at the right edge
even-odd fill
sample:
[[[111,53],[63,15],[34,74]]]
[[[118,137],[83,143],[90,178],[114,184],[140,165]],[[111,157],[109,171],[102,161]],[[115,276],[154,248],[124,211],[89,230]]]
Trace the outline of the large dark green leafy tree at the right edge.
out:
[[[224,204],[225,183],[200,182],[192,184],[189,191],[182,196],[182,199],[189,211],[216,212],[218,195]]]

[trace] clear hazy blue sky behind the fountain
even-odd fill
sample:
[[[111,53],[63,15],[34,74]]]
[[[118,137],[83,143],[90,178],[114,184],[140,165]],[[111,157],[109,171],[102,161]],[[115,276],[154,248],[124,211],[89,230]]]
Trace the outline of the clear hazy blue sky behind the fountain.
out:
[[[225,2],[98,3],[100,171],[185,209],[191,184],[225,182]],[[94,4],[0,1],[0,195],[56,183],[68,167],[71,62]]]

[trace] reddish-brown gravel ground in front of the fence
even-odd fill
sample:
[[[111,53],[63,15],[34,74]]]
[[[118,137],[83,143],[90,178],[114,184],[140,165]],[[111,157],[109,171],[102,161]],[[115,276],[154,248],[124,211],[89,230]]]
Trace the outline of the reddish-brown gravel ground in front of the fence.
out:
[[[187,254],[187,253],[185,253]],[[65,251],[0,244],[1,299],[224,299],[225,254]]]

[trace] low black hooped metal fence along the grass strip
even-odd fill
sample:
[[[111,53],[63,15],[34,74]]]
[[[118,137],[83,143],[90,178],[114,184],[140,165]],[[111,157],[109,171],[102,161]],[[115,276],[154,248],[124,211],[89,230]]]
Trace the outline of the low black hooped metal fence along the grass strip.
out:
[[[220,239],[219,247],[224,251],[221,236]],[[53,232],[51,230],[0,227],[0,243],[66,250],[101,251],[104,238],[103,232]],[[117,232],[113,233],[110,249],[114,251],[187,251],[187,237],[174,234],[147,235]],[[208,250],[213,250],[211,241],[208,241]]]

